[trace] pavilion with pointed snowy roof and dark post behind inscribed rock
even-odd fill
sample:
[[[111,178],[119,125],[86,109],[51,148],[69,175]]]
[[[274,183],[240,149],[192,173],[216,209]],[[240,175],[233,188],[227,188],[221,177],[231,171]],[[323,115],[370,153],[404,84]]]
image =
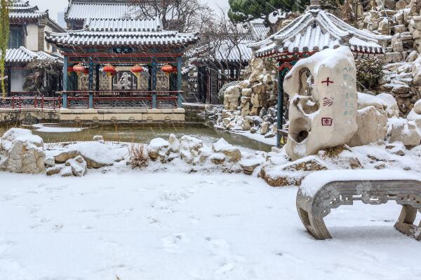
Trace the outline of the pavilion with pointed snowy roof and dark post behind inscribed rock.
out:
[[[283,78],[298,59],[342,45],[348,46],[354,57],[384,55],[386,45],[391,39],[392,36],[356,29],[321,9],[319,0],[312,0],[304,15],[265,40],[250,43],[248,46],[253,49],[255,57],[279,63],[277,146],[281,143],[283,123]]]

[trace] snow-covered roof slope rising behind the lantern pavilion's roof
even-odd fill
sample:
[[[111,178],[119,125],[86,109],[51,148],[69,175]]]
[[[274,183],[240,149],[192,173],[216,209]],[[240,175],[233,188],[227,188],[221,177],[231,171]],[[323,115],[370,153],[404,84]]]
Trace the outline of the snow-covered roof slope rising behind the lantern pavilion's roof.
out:
[[[114,19],[133,18],[138,7],[125,1],[70,1],[65,18],[67,20],[85,20],[86,18]]]

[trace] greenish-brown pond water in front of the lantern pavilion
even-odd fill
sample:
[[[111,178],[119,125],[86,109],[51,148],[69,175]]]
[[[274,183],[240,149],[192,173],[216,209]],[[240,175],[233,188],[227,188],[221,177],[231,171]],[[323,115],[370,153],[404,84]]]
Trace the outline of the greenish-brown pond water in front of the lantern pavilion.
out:
[[[13,125],[0,126],[0,135]],[[201,123],[186,123],[185,127],[143,127],[141,125],[62,125],[62,124],[38,124],[29,128],[39,135],[46,143],[91,141],[95,135],[102,135],[105,141],[149,143],[156,137],[168,139],[170,134],[178,138],[183,135],[203,140],[204,143],[213,143],[223,138],[229,144],[242,146],[258,151],[270,151],[271,146],[259,141],[249,139],[243,135],[232,134]]]

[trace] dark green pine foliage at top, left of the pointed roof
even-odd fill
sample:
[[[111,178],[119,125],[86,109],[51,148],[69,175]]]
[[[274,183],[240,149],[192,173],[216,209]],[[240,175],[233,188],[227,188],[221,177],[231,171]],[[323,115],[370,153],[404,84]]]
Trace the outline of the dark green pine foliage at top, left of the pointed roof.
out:
[[[309,4],[309,0],[229,0],[228,16],[232,22],[248,22],[264,18],[265,23],[269,15],[276,10],[302,11]]]

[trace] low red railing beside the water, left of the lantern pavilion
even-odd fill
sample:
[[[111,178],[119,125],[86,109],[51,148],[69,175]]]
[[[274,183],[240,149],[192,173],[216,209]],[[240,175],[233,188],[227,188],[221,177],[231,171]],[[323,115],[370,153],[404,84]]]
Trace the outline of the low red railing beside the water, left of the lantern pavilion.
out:
[[[62,97],[12,96],[0,97],[0,109],[60,109]]]

